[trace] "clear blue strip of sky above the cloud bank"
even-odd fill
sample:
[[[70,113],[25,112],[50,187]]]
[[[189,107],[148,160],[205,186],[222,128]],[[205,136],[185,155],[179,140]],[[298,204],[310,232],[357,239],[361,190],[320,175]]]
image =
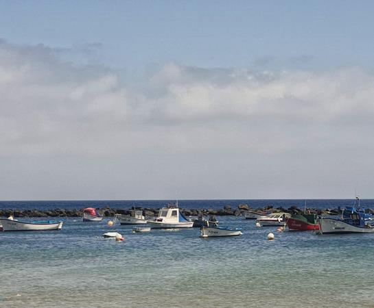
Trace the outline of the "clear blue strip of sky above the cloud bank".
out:
[[[1,1],[0,36],[99,43],[100,60],[124,68],[323,69],[372,62],[373,14],[371,1]]]

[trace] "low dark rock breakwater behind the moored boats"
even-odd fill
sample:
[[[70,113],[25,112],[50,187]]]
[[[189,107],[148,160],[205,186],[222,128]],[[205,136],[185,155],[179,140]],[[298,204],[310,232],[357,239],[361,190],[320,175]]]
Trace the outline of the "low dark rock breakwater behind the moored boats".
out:
[[[112,207],[102,207],[97,208],[100,212],[100,214],[104,217],[111,217],[115,216],[115,214],[124,214],[129,215],[131,209],[118,209],[118,208],[112,208]],[[144,216],[157,216],[159,214],[159,209],[154,208],[137,208],[143,210]],[[291,206],[287,209],[283,207],[272,207],[271,205],[263,208],[251,208],[247,204],[240,204],[237,205],[237,207],[231,207],[231,205],[225,205],[222,209],[180,209],[182,213],[185,216],[198,216],[198,214],[203,215],[216,215],[216,216],[239,216],[243,213],[243,211],[256,211],[256,212],[275,212],[275,211],[284,211],[288,212],[290,214],[292,213],[301,213],[303,210],[301,210],[299,207]],[[340,214],[340,209],[313,209],[313,208],[307,208],[307,211],[309,213],[314,214]],[[373,209],[366,209],[366,212],[374,214]],[[80,217],[83,216],[83,209],[47,209],[47,210],[40,210],[40,209],[0,209],[0,216],[2,217],[8,217],[8,216],[14,216],[14,218],[22,218],[22,217]]]

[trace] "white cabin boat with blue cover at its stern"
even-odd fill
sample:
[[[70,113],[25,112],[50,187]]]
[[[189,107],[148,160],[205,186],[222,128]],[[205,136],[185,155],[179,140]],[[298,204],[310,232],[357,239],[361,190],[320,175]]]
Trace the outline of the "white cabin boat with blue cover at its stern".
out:
[[[152,229],[168,229],[168,228],[191,228],[194,222],[185,218],[178,208],[178,202],[175,205],[163,207],[159,211],[159,216],[154,220],[148,220],[148,224]]]

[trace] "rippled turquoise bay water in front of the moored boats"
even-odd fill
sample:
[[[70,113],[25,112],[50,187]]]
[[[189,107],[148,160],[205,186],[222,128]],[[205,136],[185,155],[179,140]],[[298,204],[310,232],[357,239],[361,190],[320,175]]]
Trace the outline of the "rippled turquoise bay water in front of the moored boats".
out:
[[[78,218],[62,231],[2,232],[0,307],[374,307],[374,234],[279,233],[219,219],[244,234],[131,233]],[[108,231],[126,240],[100,238]]]

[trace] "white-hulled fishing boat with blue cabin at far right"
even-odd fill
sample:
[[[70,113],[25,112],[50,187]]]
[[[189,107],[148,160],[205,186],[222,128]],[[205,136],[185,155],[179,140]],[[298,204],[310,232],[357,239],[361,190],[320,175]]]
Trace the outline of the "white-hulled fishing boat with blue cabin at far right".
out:
[[[321,216],[318,218],[319,234],[329,233],[373,233],[371,218],[360,207],[360,198],[356,197],[353,207],[345,207],[339,216]]]

